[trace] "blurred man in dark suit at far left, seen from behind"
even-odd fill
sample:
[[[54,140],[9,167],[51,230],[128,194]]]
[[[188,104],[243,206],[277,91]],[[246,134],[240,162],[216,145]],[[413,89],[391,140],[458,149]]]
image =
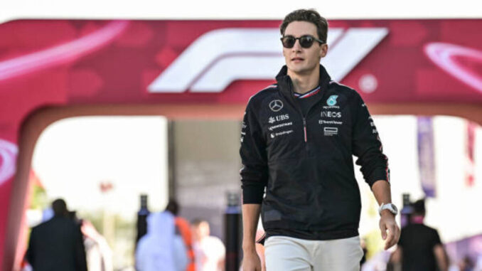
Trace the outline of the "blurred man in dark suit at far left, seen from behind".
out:
[[[26,259],[35,271],[86,271],[80,227],[68,218],[63,199],[52,203],[54,216],[32,229]]]

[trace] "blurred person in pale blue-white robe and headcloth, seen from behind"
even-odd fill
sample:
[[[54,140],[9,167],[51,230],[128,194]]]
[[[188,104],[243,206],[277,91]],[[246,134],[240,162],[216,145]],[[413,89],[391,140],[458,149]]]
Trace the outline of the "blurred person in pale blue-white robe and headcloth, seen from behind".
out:
[[[174,216],[168,211],[150,213],[147,233],[137,243],[137,271],[184,271],[188,265],[186,246],[176,235]]]

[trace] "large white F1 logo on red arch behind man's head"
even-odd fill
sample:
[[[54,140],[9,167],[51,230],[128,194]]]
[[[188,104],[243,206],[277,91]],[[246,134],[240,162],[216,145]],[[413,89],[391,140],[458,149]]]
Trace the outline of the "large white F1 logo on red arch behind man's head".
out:
[[[331,28],[321,63],[343,79],[387,36],[387,28]],[[152,93],[222,92],[235,80],[272,80],[284,65],[278,28],[223,28],[191,43],[148,87]]]

